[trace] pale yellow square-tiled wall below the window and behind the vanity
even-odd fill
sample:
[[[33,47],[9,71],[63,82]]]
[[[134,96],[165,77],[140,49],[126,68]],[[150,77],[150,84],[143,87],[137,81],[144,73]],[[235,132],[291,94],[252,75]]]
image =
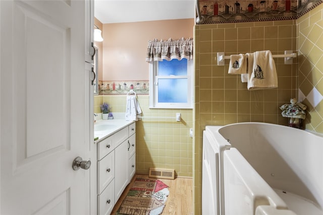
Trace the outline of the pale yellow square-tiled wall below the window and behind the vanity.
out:
[[[94,112],[107,102],[112,112],[126,111],[126,96],[94,96]],[[175,117],[181,113],[181,122],[175,119],[145,118],[136,122],[136,173],[148,174],[149,168],[175,169],[180,177],[193,176],[192,110],[149,109],[149,96],[138,95],[142,116]]]

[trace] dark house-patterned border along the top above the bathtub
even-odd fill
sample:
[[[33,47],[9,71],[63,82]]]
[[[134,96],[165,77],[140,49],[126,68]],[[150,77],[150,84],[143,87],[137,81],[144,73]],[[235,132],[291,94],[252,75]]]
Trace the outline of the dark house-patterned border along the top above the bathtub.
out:
[[[199,0],[203,24],[297,19],[323,0]]]

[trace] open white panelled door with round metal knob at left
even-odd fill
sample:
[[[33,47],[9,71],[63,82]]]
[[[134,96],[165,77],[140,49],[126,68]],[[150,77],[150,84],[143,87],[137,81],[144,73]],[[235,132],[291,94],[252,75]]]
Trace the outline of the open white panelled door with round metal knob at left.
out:
[[[84,5],[0,1],[2,215],[89,214]]]

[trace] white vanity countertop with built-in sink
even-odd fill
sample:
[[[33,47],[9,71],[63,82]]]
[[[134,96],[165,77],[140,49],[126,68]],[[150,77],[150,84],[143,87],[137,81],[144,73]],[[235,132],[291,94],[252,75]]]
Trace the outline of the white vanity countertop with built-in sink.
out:
[[[95,140],[95,142],[98,142],[135,122],[126,121],[125,118],[122,119],[119,116],[124,117],[125,115],[124,113],[114,113],[115,119],[100,119],[94,122],[94,138],[99,137],[98,140]],[[100,117],[100,114],[98,114],[98,117]]]

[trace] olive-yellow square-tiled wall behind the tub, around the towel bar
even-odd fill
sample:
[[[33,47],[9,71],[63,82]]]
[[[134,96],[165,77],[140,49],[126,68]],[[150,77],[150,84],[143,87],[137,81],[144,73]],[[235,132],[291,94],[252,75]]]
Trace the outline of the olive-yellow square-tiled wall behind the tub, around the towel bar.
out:
[[[202,132],[206,125],[269,122],[287,125],[279,107],[297,97],[297,60],[284,64],[275,58],[278,88],[248,91],[239,75],[228,74],[229,59],[218,66],[217,52],[225,55],[271,50],[296,52],[296,21],[195,25],[194,214],[201,214]]]

